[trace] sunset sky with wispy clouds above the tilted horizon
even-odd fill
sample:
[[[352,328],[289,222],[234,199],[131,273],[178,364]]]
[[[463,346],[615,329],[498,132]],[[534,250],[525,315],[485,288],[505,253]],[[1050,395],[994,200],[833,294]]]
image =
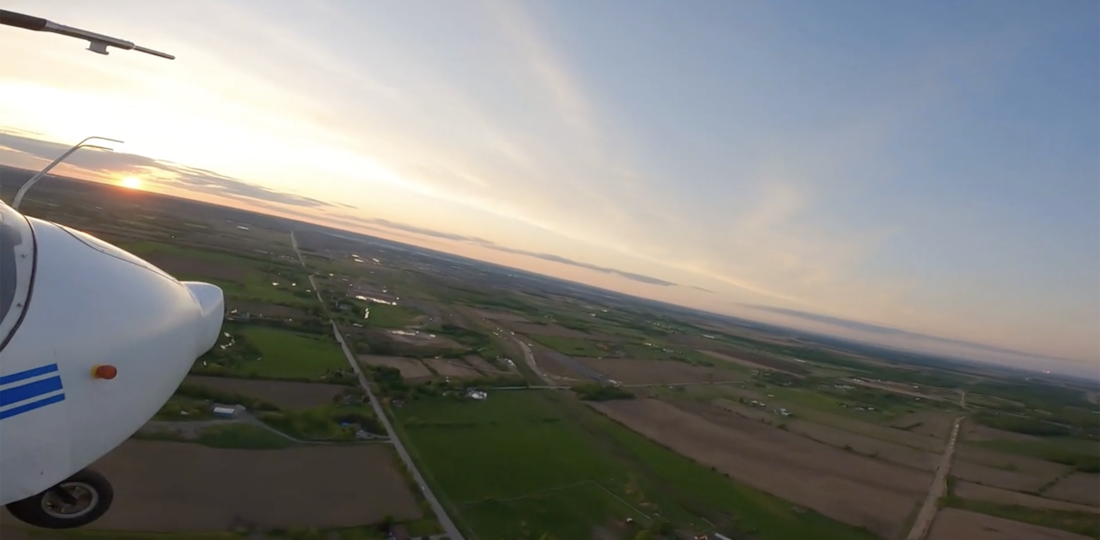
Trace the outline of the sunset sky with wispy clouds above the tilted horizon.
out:
[[[0,163],[1100,373],[1100,3],[12,0]]]

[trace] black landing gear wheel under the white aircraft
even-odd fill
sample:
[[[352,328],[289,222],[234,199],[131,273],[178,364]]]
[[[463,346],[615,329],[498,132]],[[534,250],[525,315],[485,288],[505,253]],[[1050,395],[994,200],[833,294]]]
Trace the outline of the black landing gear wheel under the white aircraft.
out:
[[[99,519],[113,499],[111,483],[85,469],[33,497],[9,503],[8,511],[35,527],[72,529]]]

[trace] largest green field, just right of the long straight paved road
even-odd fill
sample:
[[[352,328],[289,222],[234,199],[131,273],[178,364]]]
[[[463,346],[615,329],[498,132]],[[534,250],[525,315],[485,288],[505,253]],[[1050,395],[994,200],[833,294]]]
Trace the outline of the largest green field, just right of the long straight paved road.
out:
[[[704,518],[736,521],[759,539],[875,538],[735,484],[565,393],[425,399],[396,417],[438,495],[481,540],[591,538],[626,518],[691,531],[712,530]]]

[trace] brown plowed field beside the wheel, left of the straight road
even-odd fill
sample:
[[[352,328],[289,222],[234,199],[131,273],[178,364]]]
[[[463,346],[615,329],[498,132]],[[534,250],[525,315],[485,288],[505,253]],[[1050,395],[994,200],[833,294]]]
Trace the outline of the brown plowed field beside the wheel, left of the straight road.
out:
[[[114,485],[114,505],[88,528],[215,531],[419,518],[394,459],[387,444],[222,450],[131,440],[92,465]]]

